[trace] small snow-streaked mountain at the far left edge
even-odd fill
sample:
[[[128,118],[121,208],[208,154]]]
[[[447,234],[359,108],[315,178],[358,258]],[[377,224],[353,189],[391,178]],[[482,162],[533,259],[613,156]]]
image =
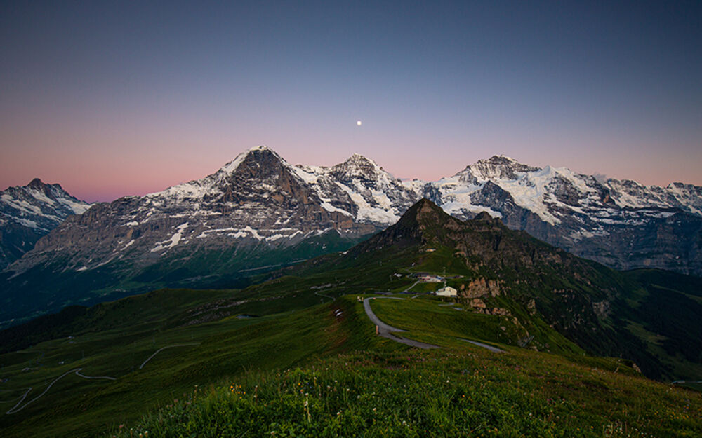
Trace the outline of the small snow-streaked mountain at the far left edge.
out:
[[[44,184],[38,178],[26,186],[0,191],[0,268],[19,259],[67,217],[88,207],[59,184]]]

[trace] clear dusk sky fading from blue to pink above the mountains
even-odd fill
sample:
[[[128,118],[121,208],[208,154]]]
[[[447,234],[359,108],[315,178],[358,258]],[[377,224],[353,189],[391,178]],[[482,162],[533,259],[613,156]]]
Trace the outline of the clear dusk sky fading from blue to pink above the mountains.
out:
[[[699,1],[4,1],[0,189],[114,200],[261,144],[702,185],[701,78]]]

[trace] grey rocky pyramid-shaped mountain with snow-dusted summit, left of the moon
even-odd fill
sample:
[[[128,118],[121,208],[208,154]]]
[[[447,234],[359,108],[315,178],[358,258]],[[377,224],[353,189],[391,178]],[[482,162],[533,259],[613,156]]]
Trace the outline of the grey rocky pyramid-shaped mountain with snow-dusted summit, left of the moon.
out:
[[[289,247],[329,232],[351,241],[376,231],[355,221],[359,208],[326,172],[295,167],[259,146],[203,179],[95,205],[11,269],[21,273],[65,254],[65,268],[79,272],[112,261],[148,266],[182,253]]]

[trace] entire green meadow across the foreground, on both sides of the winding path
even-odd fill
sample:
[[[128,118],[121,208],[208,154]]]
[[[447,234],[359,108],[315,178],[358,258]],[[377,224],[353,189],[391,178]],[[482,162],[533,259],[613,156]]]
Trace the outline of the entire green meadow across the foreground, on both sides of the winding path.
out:
[[[375,336],[357,295],[329,299],[299,288],[279,299],[255,287],[243,294],[164,289],[98,306],[83,318],[103,315],[103,327],[81,329],[79,319],[75,335],[0,355],[8,379],[1,406],[19,408],[1,417],[2,435],[702,434],[698,392],[651,381],[623,360],[583,355],[573,344],[558,354],[518,348],[522,333],[508,318],[424,296],[373,300],[378,317],[407,330],[398,336],[441,347],[417,350]],[[231,315],[217,319],[225,309]],[[84,378],[77,368],[116,380]]]

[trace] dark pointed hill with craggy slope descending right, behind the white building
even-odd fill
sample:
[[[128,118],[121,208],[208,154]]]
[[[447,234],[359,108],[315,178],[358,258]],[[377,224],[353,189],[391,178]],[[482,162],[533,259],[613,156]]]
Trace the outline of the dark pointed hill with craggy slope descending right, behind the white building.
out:
[[[429,200],[329,258],[291,271],[368,272],[366,285],[382,287],[394,273],[442,275],[445,269],[465,303],[514,318],[525,339],[534,336],[529,345],[539,350],[569,350],[544,330],[552,327],[588,353],[633,360],[652,378],[702,375],[699,278],[614,271],[512,231],[486,213],[464,222]],[[370,274],[373,270],[377,273]]]

